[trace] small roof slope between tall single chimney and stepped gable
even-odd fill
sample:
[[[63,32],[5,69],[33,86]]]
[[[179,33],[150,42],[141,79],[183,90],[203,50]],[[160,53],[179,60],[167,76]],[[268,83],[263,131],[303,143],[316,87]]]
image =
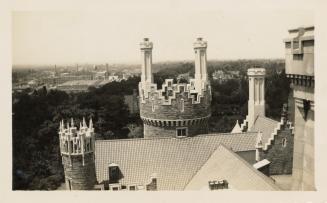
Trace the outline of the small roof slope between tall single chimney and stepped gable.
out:
[[[278,121],[272,120],[264,116],[258,116],[253,126],[249,131],[251,132],[262,132],[262,144],[266,144],[271,134],[274,132],[275,128],[278,126]]]

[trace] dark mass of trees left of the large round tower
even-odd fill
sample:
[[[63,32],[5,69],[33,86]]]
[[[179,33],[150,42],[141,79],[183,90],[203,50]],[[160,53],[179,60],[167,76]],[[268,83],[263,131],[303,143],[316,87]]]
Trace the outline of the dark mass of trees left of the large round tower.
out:
[[[128,138],[127,124],[135,120],[124,94],[137,87],[138,77],[112,82],[87,93],[68,95],[41,89],[14,95],[13,189],[52,190],[63,181],[59,153],[59,121],[92,118],[97,139]]]

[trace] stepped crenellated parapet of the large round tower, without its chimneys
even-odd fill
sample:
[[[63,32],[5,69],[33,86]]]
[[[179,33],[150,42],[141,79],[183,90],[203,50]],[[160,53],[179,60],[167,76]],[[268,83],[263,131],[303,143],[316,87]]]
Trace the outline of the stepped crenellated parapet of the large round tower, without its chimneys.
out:
[[[196,91],[195,82],[173,84],[166,79],[162,89],[156,84],[149,88],[140,83],[140,115],[142,119],[154,120],[193,120],[207,118],[211,115],[211,89],[204,84],[201,91]]]

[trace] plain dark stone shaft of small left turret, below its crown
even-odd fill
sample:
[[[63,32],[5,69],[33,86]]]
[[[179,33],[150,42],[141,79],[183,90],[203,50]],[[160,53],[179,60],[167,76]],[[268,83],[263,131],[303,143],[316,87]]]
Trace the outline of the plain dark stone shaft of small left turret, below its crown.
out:
[[[69,190],[69,183],[72,190],[92,190],[96,183],[95,164],[93,153],[85,154],[84,166],[81,155],[62,156],[62,163],[65,171],[66,186]]]

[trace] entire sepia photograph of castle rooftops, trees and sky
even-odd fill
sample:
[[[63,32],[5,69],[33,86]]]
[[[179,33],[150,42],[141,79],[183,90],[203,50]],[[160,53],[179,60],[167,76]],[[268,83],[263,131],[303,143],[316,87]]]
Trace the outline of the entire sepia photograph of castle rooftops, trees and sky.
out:
[[[12,10],[11,191],[319,191],[315,10],[204,2]]]

